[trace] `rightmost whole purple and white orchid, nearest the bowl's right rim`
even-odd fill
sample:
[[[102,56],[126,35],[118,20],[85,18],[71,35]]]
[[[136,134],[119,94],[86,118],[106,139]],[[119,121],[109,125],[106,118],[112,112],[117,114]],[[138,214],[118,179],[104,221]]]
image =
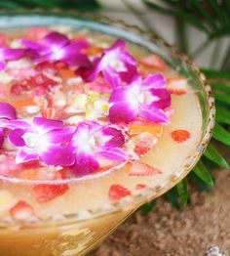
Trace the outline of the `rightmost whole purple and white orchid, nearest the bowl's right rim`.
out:
[[[136,76],[125,86],[116,87],[109,102],[111,123],[130,123],[142,117],[156,123],[167,123],[169,118],[164,111],[171,106],[171,94],[165,88],[166,81],[161,74],[149,75],[142,80]]]

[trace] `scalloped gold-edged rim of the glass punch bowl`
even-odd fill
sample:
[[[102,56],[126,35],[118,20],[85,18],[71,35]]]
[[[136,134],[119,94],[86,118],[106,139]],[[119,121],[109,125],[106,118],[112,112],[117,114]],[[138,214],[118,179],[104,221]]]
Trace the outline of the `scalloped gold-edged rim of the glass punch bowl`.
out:
[[[38,16],[44,16],[44,17],[61,17],[66,19],[76,19],[76,20],[86,20],[86,21],[93,21],[93,22],[99,22],[104,25],[112,25],[116,26],[121,29],[129,29],[132,33],[135,34],[144,34],[148,37],[149,40],[157,42],[157,45],[159,47],[163,46],[167,50],[173,52],[173,54],[181,60],[181,63],[184,63],[188,65],[191,70],[196,75],[196,78],[199,79],[200,86],[203,88],[205,92],[205,96],[207,98],[208,102],[208,115],[209,120],[207,122],[206,132],[200,139],[200,143],[197,146],[197,149],[193,152],[192,155],[188,156],[188,161],[184,164],[183,168],[179,170],[178,172],[174,173],[170,177],[166,177],[167,183],[164,186],[158,185],[154,188],[146,188],[144,190],[141,190],[141,192],[138,192],[134,195],[130,195],[125,197],[124,199],[121,199],[118,202],[112,202],[110,201],[108,205],[105,205],[104,207],[98,208],[95,211],[92,210],[84,210],[79,211],[77,213],[71,214],[71,215],[63,215],[63,219],[60,220],[54,220],[52,218],[48,220],[42,220],[35,223],[21,223],[17,220],[6,222],[6,224],[0,224],[0,230],[7,229],[9,227],[15,226],[15,225],[21,225],[23,226],[23,230],[34,230],[38,228],[54,228],[54,227],[63,227],[65,225],[72,225],[72,224],[78,224],[83,223],[89,220],[97,220],[100,218],[103,218],[104,216],[107,216],[109,214],[118,214],[123,212],[129,212],[133,211],[134,208],[137,208],[141,204],[144,204],[150,200],[153,200],[160,195],[162,195],[165,192],[168,192],[171,190],[178,182],[180,182],[183,178],[185,178],[189,172],[192,170],[192,168],[195,166],[195,164],[199,161],[200,157],[202,156],[205,149],[208,147],[210,141],[211,141],[211,134],[214,127],[214,119],[215,119],[215,107],[214,107],[214,98],[211,94],[211,86],[208,84],[205,75],[200,71],[200,69],[197,67],[196,64],[194,64],[185,54],[180,52],[175,46],[172,46],[169,44],[165,39],[159,37],[158,35],[154,34],[150,31],[145,31],[141,29],[139,26],[134,24],[127,24],[125,21],[117,20],[117,19],[111,19],[106,16],[101,16],[100,14],[80,14],[76,11],[62,11],[62,10],[53,10],[51,11],[44,11],[40,9],[36,10],[26,10],[26,9],[20,9],[17,12],[16,11],[4,11],[1,10],[0,14],[3,14],[0,17],[1,19],[4,19],[4,17],[17,17],[17,16],[25,16],[30,17],[34,15]],[[3,222],[4,223],[4,222]]]

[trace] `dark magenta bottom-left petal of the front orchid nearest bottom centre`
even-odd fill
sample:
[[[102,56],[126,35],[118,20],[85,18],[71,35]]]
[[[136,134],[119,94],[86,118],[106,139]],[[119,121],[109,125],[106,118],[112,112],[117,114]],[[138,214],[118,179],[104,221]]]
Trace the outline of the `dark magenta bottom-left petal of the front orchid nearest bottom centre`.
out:
[[[85,176],[96,172],[99,168],[99,163],[96,158],[91,154],[79,153],[76,156],[76,161],[73,166],[71,166],[72,172],[78,176]]]

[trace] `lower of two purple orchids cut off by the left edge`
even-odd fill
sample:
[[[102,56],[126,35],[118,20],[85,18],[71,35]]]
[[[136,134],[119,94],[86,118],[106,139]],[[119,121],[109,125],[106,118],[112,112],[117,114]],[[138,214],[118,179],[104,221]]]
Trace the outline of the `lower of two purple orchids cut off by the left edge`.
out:
[[[1,122],[5,119],[16,119],[16,108],[7,103],[0,103],[0,148],[4,142],[4,127]]]

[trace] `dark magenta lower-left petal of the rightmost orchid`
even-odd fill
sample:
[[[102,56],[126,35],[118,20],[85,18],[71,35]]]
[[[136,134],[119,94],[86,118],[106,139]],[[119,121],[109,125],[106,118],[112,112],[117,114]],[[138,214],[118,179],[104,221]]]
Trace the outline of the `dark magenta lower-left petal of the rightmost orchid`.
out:
[[[138,108],[129,102],[116,103],[109,108],[109,121],[111,123],[130,123],[137,116]]]

